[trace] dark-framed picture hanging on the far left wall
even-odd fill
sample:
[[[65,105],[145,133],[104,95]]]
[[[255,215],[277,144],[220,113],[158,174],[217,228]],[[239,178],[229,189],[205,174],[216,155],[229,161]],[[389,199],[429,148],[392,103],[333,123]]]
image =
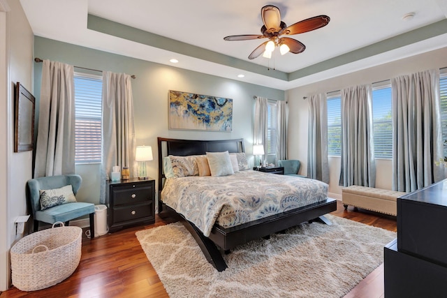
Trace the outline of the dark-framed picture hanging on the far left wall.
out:
[[[33,150],[35,98],[20,82],[15,85],[14,152]]]

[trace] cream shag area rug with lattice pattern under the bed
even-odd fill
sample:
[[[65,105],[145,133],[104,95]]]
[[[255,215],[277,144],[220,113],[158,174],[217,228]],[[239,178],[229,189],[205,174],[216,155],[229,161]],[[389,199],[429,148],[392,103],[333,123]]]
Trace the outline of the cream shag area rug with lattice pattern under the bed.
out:
[[[383,262],[396,233],[326,215],[238,246],[218,272],[181,223],[136,232],[166,292],[175,297],[342,297]]]

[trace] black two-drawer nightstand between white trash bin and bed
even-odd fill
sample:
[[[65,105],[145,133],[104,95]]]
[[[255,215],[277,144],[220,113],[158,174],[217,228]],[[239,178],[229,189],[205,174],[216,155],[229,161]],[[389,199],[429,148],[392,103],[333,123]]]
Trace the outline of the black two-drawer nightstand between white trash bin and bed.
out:
[[[108,181],[105,191],[109,232],[126,225],[155,223],[155,180]]]

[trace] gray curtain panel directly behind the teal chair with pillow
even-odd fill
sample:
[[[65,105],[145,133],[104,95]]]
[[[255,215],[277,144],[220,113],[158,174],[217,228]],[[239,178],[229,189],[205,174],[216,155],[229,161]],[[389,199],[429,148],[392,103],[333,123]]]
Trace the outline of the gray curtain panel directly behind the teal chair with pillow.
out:
[[[73,66],[43,60],[34,178],[74,173]]]

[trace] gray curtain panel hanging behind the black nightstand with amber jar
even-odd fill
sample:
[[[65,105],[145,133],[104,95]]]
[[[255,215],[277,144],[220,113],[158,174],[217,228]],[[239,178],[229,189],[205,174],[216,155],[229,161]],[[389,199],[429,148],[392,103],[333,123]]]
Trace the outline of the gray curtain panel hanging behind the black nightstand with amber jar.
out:
[[[133,124],[131,76],[103,73],[103,163],[101,165],[100,202],[105,202],[105,181],[114,165],[129,167],[137,177],[135,162],[135,128]]]

